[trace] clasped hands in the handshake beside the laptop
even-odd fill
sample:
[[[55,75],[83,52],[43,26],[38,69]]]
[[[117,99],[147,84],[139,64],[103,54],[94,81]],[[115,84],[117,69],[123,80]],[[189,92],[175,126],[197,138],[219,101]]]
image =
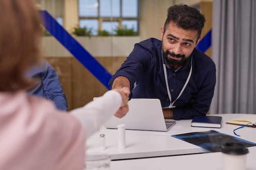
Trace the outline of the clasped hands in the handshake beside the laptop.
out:
[[[119,110],[117,110],[117,113],[115,114],[116,117],[122,118],[129,111],[129,107],[128,107],[127,103],[129,101],[130,89],[127,87],[123,87],[123,88],[114,88],[112,90],[119,92],[122,96],[123,102],[122,102]]]

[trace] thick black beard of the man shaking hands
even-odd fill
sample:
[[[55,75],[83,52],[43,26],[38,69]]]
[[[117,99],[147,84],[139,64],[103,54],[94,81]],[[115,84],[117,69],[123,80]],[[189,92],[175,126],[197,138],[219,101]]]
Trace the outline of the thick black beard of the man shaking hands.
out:
[[[173,56],[173,57],[177,57],[177,58],[181,58],[181,59],[180,60],[174,60],[171,57],[168,57],[168,54]],[[186,62],[186,59],[188,58],[185,55],[180,55],[180,54],[176,55],[175,53],[171,53],[168,50],[163,51],[163,57],[164,57],[165,61],[167,62],[167,64],[174,65],[174,66],[182,65],[184,62]]]

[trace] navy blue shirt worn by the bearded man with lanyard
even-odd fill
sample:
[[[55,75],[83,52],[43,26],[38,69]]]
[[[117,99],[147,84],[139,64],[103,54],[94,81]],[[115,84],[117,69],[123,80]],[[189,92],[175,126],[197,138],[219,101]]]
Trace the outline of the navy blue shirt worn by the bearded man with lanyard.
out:
[[[192,74],[182,95],[180,94],[191,68]],[[168,86],[171,93],[173,118],[193,119],[196,115],[206,115],[209,111],[216,84],[216,66],[210,57],[194,49],[186,64],[173,71],[166,64]],[[149,38],[135,44],[134,49],[112,75],[109,86],[118,76],[127,77],[130,81],[130,98],[157,98],[162,107],[170,105],[162,60],[162,41]],[[136,85],[135,85],[136,82]],[[135,88],[134,88],[135,87]]]

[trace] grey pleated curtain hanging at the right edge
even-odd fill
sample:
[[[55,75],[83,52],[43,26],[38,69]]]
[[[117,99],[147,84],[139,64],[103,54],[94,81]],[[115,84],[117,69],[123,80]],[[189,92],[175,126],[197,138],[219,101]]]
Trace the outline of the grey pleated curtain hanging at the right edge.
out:
[[[210,114],[256,114],[256,0],[213,0]]]

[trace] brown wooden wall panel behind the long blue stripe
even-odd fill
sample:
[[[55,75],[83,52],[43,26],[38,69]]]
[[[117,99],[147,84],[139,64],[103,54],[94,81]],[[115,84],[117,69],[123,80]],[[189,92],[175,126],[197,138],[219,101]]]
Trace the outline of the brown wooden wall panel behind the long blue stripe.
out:
[[[56,70],[68,110],[79,108],[106,93],[108,89],[74,57],[44,57]],[[110,74],[114,74],[126,57],[95,57]]]

